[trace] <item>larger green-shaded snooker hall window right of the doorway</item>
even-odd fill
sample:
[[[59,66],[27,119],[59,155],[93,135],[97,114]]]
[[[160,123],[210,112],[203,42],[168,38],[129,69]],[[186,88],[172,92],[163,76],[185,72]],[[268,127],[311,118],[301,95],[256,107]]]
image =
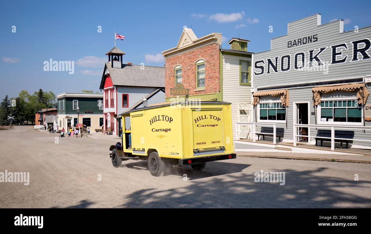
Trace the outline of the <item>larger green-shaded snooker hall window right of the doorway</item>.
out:
[[[321,121],[362,122],[362,104],[357,100],[321,101]]]

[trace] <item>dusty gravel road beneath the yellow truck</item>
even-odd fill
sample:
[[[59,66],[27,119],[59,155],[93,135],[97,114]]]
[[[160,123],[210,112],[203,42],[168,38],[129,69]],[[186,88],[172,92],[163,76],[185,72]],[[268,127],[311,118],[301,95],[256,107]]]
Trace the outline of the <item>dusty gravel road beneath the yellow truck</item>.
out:
[[[55,137],[0,130],[0,173],[30,173],[29,185],[0,183],[0,208],[371,207],[370,164],[238,157],[153,177],[146,161],[114,168],[112,141]],[[260,170],[285,172],[285,185],[256,183]]]

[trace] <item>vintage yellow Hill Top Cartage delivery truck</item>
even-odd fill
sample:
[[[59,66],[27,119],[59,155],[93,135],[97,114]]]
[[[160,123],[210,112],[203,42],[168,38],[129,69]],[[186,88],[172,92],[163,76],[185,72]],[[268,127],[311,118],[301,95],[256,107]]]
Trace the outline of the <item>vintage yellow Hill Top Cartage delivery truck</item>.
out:
[[[109,148],[114,167],[123,160],[148,160],[151,174],[160,176],[166,166],[202,170],[207,162],[236,158],[230,103],[164,103],[124,112],[122,122],[122,142]]]

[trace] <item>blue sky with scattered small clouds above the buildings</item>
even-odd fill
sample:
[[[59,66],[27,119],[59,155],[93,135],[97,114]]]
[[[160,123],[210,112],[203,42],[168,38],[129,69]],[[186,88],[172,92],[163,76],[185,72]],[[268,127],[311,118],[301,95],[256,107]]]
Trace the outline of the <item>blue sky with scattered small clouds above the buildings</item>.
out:
[[[309,4],[310,3],[310,4]],[[163,66],[162,51],[176,46],[183,26],[197,37],[222,33],[242,37],[252,52],[270,49],[270,39],[287,34],[287,23],[315,13],[322,24],[344,19],[344,30],[371,25],[371,1],[1,1],[0,98],[42,88],[55,94],[99,91],[114,47],[124,62]],[[12,33],[16,26],[16,33]],[[102,32],[98,33],[98,26]],[[273,33],[269,33],[273,26]],[[44,61],[75,61],[75,73],[44,71]]]

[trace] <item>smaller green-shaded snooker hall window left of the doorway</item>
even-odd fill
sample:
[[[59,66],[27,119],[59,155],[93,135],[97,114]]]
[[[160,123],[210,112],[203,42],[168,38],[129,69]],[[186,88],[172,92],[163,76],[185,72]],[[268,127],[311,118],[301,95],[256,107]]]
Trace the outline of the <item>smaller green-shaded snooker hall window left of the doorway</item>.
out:
[[[260,103],[260,120],[286,120],[286,109],[281,103]]]

